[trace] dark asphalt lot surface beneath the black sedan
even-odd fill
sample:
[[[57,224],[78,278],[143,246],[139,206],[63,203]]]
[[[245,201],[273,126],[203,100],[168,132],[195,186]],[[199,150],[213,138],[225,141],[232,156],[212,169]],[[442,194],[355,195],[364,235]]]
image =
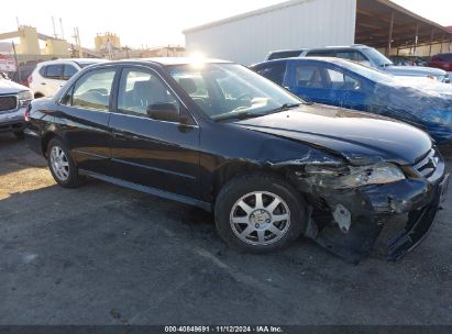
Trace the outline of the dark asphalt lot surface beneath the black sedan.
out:
[[[384,237],[357,266],[306,240],[241,255],[211,214],[100,181],[59,188],[0,135],[0,324],[452,324],[451,202],[396,264]]]

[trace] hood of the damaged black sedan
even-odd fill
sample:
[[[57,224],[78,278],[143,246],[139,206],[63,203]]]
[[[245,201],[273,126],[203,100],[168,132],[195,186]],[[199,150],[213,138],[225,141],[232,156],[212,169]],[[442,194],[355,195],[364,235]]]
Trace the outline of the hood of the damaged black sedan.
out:
[[[302,105],[235,124],[324,148],[354,165],[381,160],[414,164],[432,146],[430,137],[411,125],[323,104]]]

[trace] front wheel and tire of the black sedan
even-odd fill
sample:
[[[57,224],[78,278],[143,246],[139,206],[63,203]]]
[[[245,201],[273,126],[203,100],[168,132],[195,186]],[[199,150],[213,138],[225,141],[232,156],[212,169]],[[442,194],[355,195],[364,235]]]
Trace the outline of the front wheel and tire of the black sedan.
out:
[[[307,205],[299,192],[272,175],[232,179],[220,191],[216,225],[234,249],[264,254],[289,246],[307,224]]]

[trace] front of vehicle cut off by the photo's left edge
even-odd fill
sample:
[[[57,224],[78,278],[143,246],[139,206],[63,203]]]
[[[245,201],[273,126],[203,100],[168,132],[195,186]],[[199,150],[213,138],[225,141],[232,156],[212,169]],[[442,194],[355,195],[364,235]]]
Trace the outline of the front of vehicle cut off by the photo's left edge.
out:
[[[12,132],[23,137],[24,112],[31,100],[32,91],[0,76],[0,133]]]

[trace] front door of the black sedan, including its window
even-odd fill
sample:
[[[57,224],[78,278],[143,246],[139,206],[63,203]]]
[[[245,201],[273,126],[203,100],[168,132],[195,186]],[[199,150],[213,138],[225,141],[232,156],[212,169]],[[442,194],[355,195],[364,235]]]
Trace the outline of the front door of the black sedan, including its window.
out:
[[[172,103],[188,113],[156,69],[122,69],[111,115],[111,156],[117,178],[185,197],[199,197],[199,126],[151,119],[150,105]]]

